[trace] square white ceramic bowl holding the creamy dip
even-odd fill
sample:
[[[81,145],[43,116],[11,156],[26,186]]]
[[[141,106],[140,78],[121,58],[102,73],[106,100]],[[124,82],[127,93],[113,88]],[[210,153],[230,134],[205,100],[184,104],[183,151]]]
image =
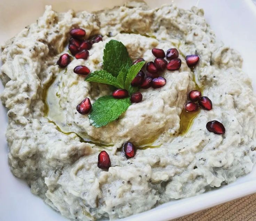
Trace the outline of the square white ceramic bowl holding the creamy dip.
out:
[[[26,25],[34,23],[42,15],[45,5],[53,5],[56,11],[99,10],[121,5],[122,0],[1,0],[0,43],[12,37]],[[174,2],[178,7],[190,9],[195,5],[205,10],[205,18],[216,33],[217,39],[238,50],[243,59],[243,70],[253,79],[256,90],[256,6],[251,0],[148,0],[151,7]],[[3,90],[0,84],[0,91]],[[43,201],[30,193],[22,180],[15,178],[8,167],[8,147],[5,138],[6,109],[0,105],[0,220],[5,221],[64,221],[67,220]],[[225,187],[210,192],[172,201],[150,211],[130,216],[130,221],[167,221],[232,199],[256,192],[256,168],[245,177]]]

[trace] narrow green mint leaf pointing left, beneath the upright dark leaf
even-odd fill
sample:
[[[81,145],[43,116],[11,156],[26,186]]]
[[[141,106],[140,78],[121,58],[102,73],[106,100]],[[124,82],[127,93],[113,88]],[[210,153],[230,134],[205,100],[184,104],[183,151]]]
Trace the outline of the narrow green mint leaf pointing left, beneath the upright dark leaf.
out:
[[[88,82],[97,82],[102,84],[110,84],[115,87],[119,87],[117,83],[117,78],[115,78],[112,74],[108,73],[104,70],[94,71],[93,73],[89,74],[86,78]]]

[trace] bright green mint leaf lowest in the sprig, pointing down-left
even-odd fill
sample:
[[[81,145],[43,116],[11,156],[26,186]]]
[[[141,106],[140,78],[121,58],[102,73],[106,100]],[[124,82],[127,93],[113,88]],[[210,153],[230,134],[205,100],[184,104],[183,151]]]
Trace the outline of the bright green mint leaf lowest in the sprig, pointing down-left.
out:
[[[89,114],[90,122],[95,127],[102,127],[116,120],[131,105],[130,98],[115,99],[103,96],[96,100]]]

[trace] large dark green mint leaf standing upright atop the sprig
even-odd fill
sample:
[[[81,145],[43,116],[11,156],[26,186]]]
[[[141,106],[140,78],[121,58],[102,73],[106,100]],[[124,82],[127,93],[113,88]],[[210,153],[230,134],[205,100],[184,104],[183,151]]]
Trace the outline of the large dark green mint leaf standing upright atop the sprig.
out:
[[[103,70],[117,77],[122,68],[128,70],[131,63],[128,51],[122,42],[110,40],[106,43],[103,54]]]

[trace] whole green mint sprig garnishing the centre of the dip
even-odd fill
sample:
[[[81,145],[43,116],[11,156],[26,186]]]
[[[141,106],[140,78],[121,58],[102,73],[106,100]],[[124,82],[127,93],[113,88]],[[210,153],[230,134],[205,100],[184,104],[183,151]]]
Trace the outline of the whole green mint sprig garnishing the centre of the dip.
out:
[[[129,94],[136,92],[131,82],[143,67],[145,61],[132,65],[128,51],[121,42],[110,40],[105,45],[103,53],[103,70],[89,74],[85,80],[113,85],[126,89]],[[130,97],[115,99],[113,96],[103,96],[96,100],[89,114],[90,122],[95,127],[102,127],[116,120],[131,105]]]

